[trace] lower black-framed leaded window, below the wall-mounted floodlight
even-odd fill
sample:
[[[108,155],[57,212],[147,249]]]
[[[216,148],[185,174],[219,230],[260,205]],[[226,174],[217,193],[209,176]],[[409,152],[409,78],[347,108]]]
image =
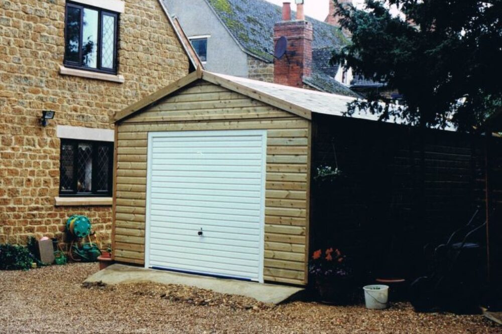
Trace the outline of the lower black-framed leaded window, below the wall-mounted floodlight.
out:
[[[113,142],[61,139],[60,196],[112,195]]]

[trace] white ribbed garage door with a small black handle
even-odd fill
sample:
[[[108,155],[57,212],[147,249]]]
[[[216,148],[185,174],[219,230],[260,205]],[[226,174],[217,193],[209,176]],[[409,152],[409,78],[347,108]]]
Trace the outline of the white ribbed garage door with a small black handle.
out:
[[[145,265],[263,282],[266,130],[151,132]]]

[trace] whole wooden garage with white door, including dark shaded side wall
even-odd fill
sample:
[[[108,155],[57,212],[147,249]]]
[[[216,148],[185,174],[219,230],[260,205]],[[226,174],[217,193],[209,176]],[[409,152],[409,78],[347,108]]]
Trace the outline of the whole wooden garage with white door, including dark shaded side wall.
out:
[[[398,263],[418,260],[397,255],[418,254],[477,205],[478,145],[342,117],[351,100],[199,70],[118,112],[114,259],[304,285],[309,243],[325,243],[369,265],[389,254],[406,276]],[[345,176],[328,195],[311,182],[322,164]]]

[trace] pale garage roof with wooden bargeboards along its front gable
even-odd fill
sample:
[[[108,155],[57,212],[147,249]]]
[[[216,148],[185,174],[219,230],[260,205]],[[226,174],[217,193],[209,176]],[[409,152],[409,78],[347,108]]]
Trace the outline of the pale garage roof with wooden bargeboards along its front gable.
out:
[[[115,113],[112,121],[116,122],[129,117],[199,79],[225,87],[229,90],[257,99],[307,119],[312,118],[312,112],[333,116],[343,116],[347,111],[347,103],[355,100],[355,98],[349,96],[323,93],[309,89],[295,88],[230,75],[216,74],[203,71],[199,68],[196,72],[193,72],[171,85],[155,92],[154,94],[147,96],[126,109]],[[369,120],[379,119],[378,115],[372,115],[369,113],[354,113],[352,117]]]

